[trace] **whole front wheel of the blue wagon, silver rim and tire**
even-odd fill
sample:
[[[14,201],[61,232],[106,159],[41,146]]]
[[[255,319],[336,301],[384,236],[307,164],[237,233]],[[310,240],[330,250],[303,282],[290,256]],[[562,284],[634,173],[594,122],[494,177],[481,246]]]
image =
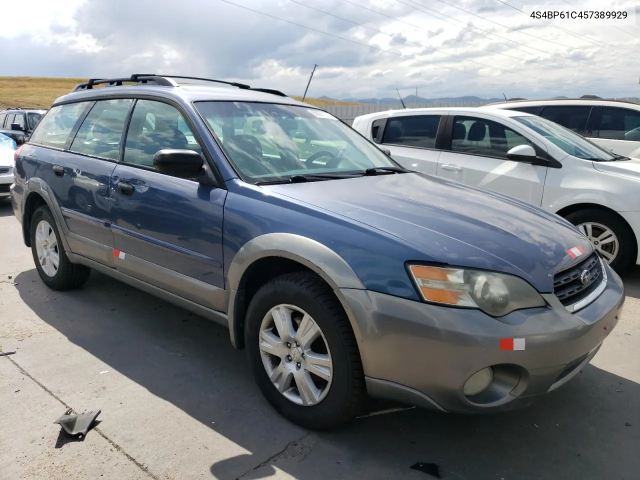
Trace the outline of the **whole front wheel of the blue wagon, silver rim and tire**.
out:
[[[245,344],[262,394],[283,417],[328,430],[355,417],[366,398],[349,319],[310,273],[279,276],[253,296]]]

